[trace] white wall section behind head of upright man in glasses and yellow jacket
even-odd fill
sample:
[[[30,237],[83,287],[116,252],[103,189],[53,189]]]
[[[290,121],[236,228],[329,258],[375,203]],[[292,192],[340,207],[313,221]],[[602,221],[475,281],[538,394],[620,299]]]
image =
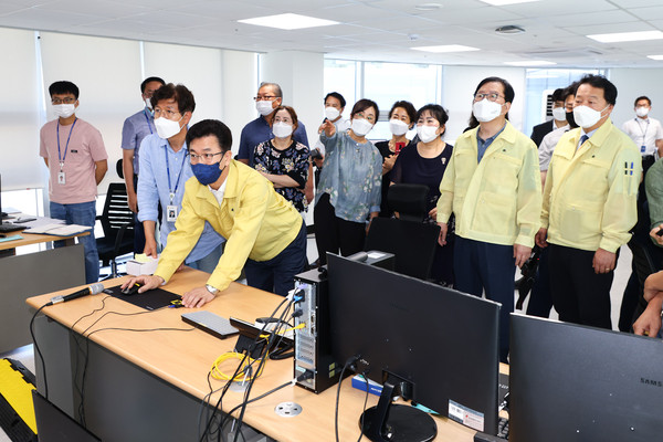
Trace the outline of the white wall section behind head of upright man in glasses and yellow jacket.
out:
[[[488,76],[498,76],[511,83],[516,93],[508,113],[509,122],[523,128],[525,104],[525,69],[486,66],[445,66],[442,74],[442,106],[449,112],[446,143],[453,141],[467,127],[472,114],[472,95],[476,85]]]

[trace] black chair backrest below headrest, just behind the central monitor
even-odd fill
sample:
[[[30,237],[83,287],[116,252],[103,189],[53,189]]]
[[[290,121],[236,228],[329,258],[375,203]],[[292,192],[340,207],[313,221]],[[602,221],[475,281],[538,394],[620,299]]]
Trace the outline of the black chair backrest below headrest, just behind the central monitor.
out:
[[[427,280],[430,276],[440,227],[415,221],[373,218],[365,250],[393,253],[394,271]]]

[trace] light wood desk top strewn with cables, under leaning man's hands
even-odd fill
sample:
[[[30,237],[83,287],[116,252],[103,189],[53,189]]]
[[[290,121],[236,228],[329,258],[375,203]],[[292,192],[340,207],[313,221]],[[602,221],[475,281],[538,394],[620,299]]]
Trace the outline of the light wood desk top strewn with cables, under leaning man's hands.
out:
[[[105,286],[115,286],[127,277],[106,281]],[[187,290],[200,286],[207,281],[207,274],[187,269],[178,272],[172,281],[165,286],[173,293],[185,293]],[[75,290],[75,288],[74,288]],[[55,292],[48,295],[34,296],[27,302],[31,307],[39,308],[54,295],[67,294],[74,290]],[[202,309],[213,312],[223,317],[239,317],[253,322],[255,317],[266,316],[283,298],[271,293],[232,283],[230,287],[218,295],[217,299],[207,304]],[[105,308],[80,320],[74,329],[85,330],[91,324],[108,312],[140,313],[139,307],[120,299],[106,296],[86,296],[69,303],[62,303],[44,308],[42,312],[59,323],[71,327],[82,316],[95,308]],[[106,315],[90,332],[113,327],[115,329],[94,333],[91,339],[128,361],[141,367],[152,375],[166,380],[175,387],[202,399],[208,392],[207,375],[214,359],[229,351],[235,344],[235,338],[218,339],[204,332],[194,329],[180,318],[182,313],[191,312],[186,308],[162,308],[135,316]],[[177,330],[129,332],[117,328],[152,329],[176,328]],[[88,333],[90,333],[88,332]],[[137,338],[139,335],[139,338]],[[236,361],[229,362],[225,371],[232,372]],[[251,397],[256,397],[272,388],[293,379],[293,361],[270,360],[263,375],[256,380]],[[212,387],[218,389],[223,381],[212,379]],[[223,410],[241,403],[243,393],[228,391],[223,399]],[[351,388],[350,378],[341,387],[339,409],[339,439],[341,441],[357,440],[359,436],[358,419],[364,409],[365,393]],[[215,403],[218,394],[212,397]],[[377,403],[378,398],[369,394],[368,406]],[[294,418],[281,418],[274,408],[284,401],[293,401],[302,406],[303,412]],[[285,387],[275,393],[250,403],[246,407],[244,422],[254,429],[277,440],[306,441],[334,440],[334,410],[336,387],[320,394],[314,394],[303,388]],[[440,441],[473,441],[475,431],[444,418],[435,418],[438,438]]]

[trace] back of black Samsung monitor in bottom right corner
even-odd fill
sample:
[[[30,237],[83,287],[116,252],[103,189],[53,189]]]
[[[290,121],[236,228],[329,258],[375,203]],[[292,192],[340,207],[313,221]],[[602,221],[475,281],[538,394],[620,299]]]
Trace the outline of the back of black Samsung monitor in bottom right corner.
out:
[[[663,341],[512,315],[509,441],[663,440]]]

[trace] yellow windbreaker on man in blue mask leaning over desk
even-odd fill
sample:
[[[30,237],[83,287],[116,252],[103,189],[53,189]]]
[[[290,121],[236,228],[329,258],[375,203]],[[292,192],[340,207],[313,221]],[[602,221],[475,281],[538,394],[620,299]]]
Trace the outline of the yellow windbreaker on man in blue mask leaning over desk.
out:
[[[252,168],[232,160],[228,166],[223,202],[196,177],[186,185],[182,210],[168,235],[155,275],[168,281],[198,241],[204,222],[227,239],[225,249],[208,284],[225,290],[240,276],[250,257],[267,261],[299,233],[302,215],[274,186]]]

